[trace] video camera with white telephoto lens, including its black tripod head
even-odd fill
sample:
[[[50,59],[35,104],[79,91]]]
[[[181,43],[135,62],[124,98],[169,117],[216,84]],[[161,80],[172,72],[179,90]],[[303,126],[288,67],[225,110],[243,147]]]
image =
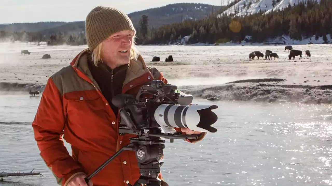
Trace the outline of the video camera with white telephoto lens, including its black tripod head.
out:
[[[190,105],[192,95],[177,90],[177,86],[165,84],[162,80],[152,80],[141,86],[136,97],[131,94],[118,94],[112,99],[113,105],[119,108],[121,121],[120,135],[134,134],[129,138],[130,144],[116,152],[110,159],[85,178],[88,181],[124,150],[135,151],[141,176],[133,186],[160,186],[159,160],[163,157],[165,140],[198,139],[197,135],[186,135],[174,128],[189,128],[200,132],[216,132],[211,125],[217,115],[212,109],[216,105]],[[127,183],[128,186],[131,186]]]

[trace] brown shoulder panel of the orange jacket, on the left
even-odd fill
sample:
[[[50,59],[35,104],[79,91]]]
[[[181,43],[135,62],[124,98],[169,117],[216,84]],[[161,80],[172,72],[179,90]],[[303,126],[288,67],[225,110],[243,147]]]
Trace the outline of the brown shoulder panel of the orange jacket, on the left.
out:
[[[57,71],[50,78],[53,80],[61,96],[68,92],[95,89],[92,84],[78,76],[70,65]]]

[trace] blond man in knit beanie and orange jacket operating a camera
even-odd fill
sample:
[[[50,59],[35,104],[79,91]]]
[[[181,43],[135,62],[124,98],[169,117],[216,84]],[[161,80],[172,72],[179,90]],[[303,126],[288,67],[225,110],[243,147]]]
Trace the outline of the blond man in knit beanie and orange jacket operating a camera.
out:
[[[88,184],[84,181],[133,137],[119,135],[120,118],[112,98],[121,93],[136,94],[141,85],[153,79],[167,83],[161,72],[145,65],[135,49],[134,37],[133,24],[124,13],[98,6],[86,18],[89,48],[47,80],[32,126],[40,155],[58,184],[133,185],[139,178],[134,152],[124,151]],[[177,130],[199,135],[198,140],[188,140],[191,143],[206,135],[187,128]],[[72,156],[63,145],[62,134],[71,145]]]

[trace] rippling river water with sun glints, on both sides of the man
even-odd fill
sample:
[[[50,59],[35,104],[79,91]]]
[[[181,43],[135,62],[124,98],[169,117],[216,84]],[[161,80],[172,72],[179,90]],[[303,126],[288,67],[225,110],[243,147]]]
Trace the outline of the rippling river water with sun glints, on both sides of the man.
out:
[[[31,127],[39,101],[27,92],[0,93],[0,172],[42,174],[0,185],[57,185]],[[161,169],[170,186],[332,185],[331,105],[194,102],[219,107],[218,132],[196,144],[167,141]]]

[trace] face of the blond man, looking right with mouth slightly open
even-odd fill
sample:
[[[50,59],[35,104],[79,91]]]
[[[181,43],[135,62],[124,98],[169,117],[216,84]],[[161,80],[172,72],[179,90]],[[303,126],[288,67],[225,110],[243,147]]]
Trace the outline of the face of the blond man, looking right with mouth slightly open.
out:
[[[130,49],[134,33],[124,30],[112,34],[102,43],[101,58],[112,69],[130,61]]]

